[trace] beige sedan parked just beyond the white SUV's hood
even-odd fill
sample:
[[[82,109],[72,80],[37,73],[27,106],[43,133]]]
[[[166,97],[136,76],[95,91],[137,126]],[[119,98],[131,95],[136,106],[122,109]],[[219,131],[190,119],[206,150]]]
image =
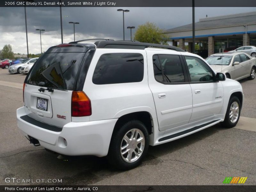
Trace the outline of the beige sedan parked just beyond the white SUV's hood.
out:
[[[206,61],[216,72],[225,73],[227,78],[239,80],[248,77],[255,78],[256,58],[243,52],[216,53]]]

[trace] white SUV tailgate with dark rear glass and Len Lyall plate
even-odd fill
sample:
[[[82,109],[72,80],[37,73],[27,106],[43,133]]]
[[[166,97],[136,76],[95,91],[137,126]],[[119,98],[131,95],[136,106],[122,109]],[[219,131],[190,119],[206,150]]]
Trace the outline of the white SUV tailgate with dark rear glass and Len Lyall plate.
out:
[[[44,53],[31,69],[24,89],[27,115],[47,124],[63,127],[71,122],[71,97],[84,49],[70,52],[55,47]]]

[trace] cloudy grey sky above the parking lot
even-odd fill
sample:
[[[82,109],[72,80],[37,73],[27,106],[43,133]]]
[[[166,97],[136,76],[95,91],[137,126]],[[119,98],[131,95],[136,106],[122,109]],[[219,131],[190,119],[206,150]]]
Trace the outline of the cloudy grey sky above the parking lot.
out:
[[[160,28],[169,29],[192,23],[191,7],[122,7],[130,12],[124,13],[125,39],[130,39],[127,26],[154,22]],[[73,24],[76,25],[76,40],[87,38],[123,39],[122,12],[118,7],[62,7],[63,42],[74,40]],[[255,11],[255,7],[196,7],[196,22],[200,18]],[[40,53],[40,35],[42,32],[42,50],[61,43],[60,8],[27,7],[29,53]],[[135,28],[135,29],[136,29]],[[135,31],[135,30],[134,30]],[[133,31],[133,32],[134,32]],[[1,8],[0,11],[0,50],[5,44],[11,44],[14,53],[27,53],[24,7]]]

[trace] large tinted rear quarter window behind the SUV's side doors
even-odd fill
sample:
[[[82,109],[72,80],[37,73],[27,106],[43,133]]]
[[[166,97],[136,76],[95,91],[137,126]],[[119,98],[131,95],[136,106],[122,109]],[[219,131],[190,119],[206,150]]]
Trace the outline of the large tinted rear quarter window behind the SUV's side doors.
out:
[[[94,84],[140,82],[144,75],[144,60],[140,53],[107,53],[100,56],[95,67]]]

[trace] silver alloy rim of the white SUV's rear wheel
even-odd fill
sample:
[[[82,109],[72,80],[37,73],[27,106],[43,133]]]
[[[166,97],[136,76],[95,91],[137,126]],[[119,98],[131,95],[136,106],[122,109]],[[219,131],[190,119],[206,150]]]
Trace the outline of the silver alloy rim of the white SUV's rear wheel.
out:
[[[128,131],[121,142],[120,152],[124,161],[128,163],[138,160],[145,147],[145,136],[140,129]]]

